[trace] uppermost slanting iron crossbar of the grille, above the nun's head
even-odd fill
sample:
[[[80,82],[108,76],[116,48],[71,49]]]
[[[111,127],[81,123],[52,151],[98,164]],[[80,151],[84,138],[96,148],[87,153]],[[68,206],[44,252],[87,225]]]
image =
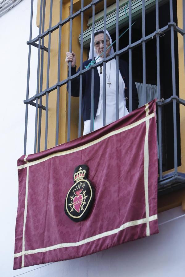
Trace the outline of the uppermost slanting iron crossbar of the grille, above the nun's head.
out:
[[[90,8],[92,8],[92,4],[97,4],[99,2],[102,2],[102,0],[94,0],[92,1],[90,4],[88,4],[87,6],[85,6],[84,8],[78,10],[76,13],[68,16],[68,18],[65,18],[64,20],[60,21],[59,23],[57,23],[55,26],[48,28],[45,32],[43,32],[42,34],[38,35],[36,38],[33,38],[32,40],[27,41],[28,45],[33,45],[35,42],[37,42],[39,40],[39,38],[43,38],[45,36],[47,36],[47,34],[49,34],[49,32],[53,32],[55,30],[57,30],[59,28],[59,26],[63,26],[64,24],[68,23],[70,21],[70,19],[77,17],[81,12],[84,12]]]

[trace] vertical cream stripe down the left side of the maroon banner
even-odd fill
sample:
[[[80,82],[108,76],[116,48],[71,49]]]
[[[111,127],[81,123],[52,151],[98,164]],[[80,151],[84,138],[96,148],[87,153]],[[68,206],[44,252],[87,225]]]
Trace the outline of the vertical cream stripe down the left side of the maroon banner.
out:
[[[24,161],[27,162],[27,156],[25,156]],[[27,162],[28,163],[28,162]],[[24,221],[23,221],[23,253],[25,251],[25,226],[26,226],[26,217],[27,217],[27,200],[28,200],[28,179],[29,179],[29,164],[27,165],[27,175],[26,175],[26,193],[25,193],[25,204],[24,204]],[[22,256],[22,265],[24,267],[24,254]]]

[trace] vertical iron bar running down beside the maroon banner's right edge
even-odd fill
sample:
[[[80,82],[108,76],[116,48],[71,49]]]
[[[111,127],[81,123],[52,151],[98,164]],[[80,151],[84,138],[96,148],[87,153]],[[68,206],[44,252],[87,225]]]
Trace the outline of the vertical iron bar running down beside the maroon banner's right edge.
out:
[[[159,31],[159,5],[155,2],[156,9],[156,31]],[[157,98],[161,99],[160,90],[160,52],[159,52],[159,34],[156,34],[156,55],[157,55]],[[158,147],[159,147],[159,179],[162,179],[162,107],[158,106]]]

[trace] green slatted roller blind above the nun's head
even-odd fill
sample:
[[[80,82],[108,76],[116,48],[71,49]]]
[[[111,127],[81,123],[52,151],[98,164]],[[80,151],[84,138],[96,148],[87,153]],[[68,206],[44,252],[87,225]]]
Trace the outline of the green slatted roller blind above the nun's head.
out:
[[[167,2],[167,0],[159,0],[160,2]],[[126,0],[119,1],[119,29],[124,26],[128,26],[128,17],[125,14],[125,7],[128,3]],[[145,11],[150,12],[155,8],[155,0],[145,0]],[[127,15],[129,15],[129,4],[126,8]],[[135,20],[142,16],[142,0],[132,1],[132,20]],[[91,41],[92,33],[92,18],[88,21],[89,28],[83,32],[83,47],[88,48]],[[95,15],[95,31],[104,29],[104,11]],[[110,34],[114,33],[116,30],[116,4],[113,4],[107,8],[107,20],[106,29]],[[79,35],[79,42],[81,43],[81,34]]]

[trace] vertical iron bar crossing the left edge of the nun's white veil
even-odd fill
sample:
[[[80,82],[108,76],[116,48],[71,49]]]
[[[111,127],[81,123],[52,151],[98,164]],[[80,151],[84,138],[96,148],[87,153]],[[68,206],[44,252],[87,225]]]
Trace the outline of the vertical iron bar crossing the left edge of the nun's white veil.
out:
[[[92,4],[92,61],[94,61],[94,19],[95,5]],[[94,68],[91,69],[91,126],[90,131],[94,131]]]

